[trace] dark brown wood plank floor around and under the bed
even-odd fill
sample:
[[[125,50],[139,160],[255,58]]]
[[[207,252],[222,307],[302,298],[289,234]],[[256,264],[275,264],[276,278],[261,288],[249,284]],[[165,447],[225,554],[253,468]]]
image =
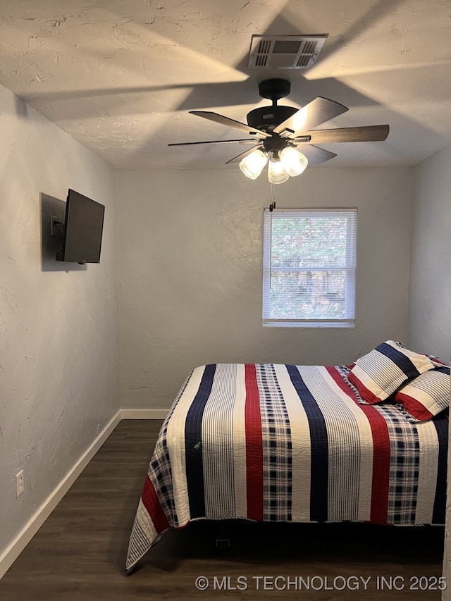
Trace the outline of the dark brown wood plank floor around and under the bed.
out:
[[[440,599],[439,527],[201,521],[163,535],[124,576],[160,425],[119,423],[1,579],[2,601]],[[229,537],[231,546],[218,549],[216,537]],[[196,588],[200,576],[206,590]]]

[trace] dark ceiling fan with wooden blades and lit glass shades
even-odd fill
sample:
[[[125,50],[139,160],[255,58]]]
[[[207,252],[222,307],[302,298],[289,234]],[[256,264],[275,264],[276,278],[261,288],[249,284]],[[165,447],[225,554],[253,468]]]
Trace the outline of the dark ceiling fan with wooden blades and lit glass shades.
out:
[[[345,113],[346,106],[317,97],[302,109],[278,105],[280,98],[290,94],[290,82],[283,79],[264,80],[259,84],[262,98],[272,101],[272,106],[261,106],[247,113],[247,124],[211,111],[189,111],[221,125],[240,130],[251,136],[245,140],[211,140],[206,142],[179,142],[168,146],[191,144],[252,144],[252,148],[235,156],[228,163],[240,161],[241,171],[248,178],[256,179],[268,162],[268,179],[282,183],[290,175],[302,173],[309,162],[324,163],[337,156],[334,152],[316,146],[332,142],[377,142],[385,140],[388,125],[365,125],[357,128],[331,128],[314,130],[326,121]]]

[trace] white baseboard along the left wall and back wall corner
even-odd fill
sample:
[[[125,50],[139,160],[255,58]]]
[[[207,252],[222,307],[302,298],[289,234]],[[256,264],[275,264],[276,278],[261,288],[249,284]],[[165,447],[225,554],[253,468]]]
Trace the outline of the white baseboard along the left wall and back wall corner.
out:
[[[25,549],[33,536],[37,533],[44,521],[49,517],[56,505],[66,495],[69,488],[75,480],[80,476],[80,473],[85,469],[92,457],[104,444],[105,440],[113,432],[121,419],[164,419],[168,414],[168,409],[119,409],[117,414],[109,421],[109,423],[101,430],[101,433],[92,442],[92,445],[82,454],[70,471],[64,476],[58,486],[47,497],[47,500],[37,509],[30,520],[25,524],[20,533],[16,536],[13,542],[6,547],[4,552],[0,554],[0,578],[4,576],[6,571],[16,561],[21,552]]]

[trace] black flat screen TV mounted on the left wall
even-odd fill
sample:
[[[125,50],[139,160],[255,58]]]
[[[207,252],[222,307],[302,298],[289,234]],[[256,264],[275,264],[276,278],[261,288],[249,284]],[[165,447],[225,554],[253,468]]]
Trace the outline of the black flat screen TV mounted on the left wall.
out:
[[[99,263],[105,207],[80,192],[70,190],[66,202],[63,248],[58,261]]]

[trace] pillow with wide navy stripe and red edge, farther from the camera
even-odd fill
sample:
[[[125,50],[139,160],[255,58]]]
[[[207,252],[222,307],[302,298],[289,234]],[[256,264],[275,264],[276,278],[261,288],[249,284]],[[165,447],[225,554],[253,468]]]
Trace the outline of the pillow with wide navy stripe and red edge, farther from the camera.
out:
[[[400,342],[387,340],[357,359],[347,377],[357,388],[362,402],[374,404],[388,399],[406,380],[433,368],[426,355],[409,351]]]

